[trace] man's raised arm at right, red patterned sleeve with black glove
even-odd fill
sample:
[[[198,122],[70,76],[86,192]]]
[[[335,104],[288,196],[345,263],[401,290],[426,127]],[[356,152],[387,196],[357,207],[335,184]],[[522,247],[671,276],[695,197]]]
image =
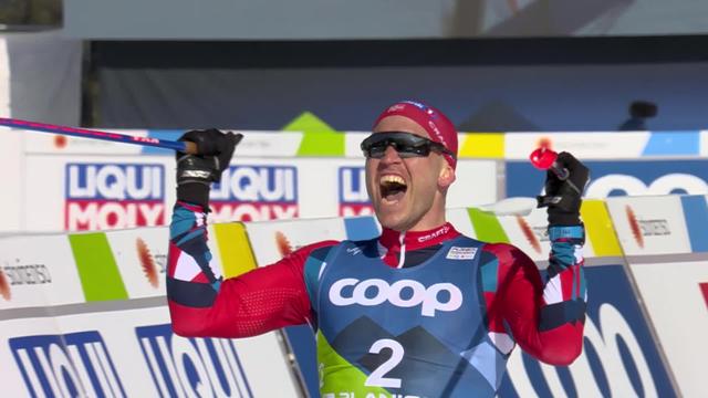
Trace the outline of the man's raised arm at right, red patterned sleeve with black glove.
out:
[[[558,161],[571,177],[560,180],[549,171],[546,195],[539,198],[541,206],[549,207],[551,254],[545,279],[542,281],[528,255],[503,243],[485,247],[481,274],[487,282],[483,285],[493,286],[485,292],[490,332],[511,332],[516,343],[533,357],[568,365],[583,345],[587,294],[580,205],[589,170],[566,153],[561,153]],[[493,283],[489,283],[489,275],[493,275]]]

